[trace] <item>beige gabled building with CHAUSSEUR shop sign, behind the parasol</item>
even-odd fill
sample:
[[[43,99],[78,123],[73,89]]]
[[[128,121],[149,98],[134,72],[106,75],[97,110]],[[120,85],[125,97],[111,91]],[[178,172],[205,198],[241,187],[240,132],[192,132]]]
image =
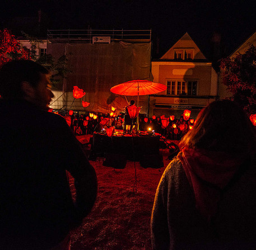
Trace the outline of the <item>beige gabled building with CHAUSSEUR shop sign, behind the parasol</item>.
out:
[[[175,115],[185,109],[196,118],[208,103],[218,99],[218,77],[196,43],[186,33],[160,59],[152,60],[153,81],[166,91],[149,97],[150,116]]]

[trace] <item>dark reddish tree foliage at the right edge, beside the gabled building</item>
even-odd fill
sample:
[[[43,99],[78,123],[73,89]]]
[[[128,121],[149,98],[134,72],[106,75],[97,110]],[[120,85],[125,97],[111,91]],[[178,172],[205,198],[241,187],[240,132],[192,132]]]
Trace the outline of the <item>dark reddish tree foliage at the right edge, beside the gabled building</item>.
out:
[[[256,113],[256,47],[221,60],[222,81],[248,114]]]

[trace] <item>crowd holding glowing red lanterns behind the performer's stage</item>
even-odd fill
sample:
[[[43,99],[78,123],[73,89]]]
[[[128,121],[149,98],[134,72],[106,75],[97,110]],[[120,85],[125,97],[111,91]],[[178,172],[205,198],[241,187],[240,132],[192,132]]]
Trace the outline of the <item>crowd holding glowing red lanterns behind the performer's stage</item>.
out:
[[[93,134],[103,132],[106,128],[114,126],[115,129],[124,129],[124,114],[115,117],[110,114],[97,114],[94,116],[87,114],[64,115],[75,135]],[[193,128],[194,119],[184,119],[183,114],[179,119],[174,116],[150,118],[146,115],[139,115],[139,131],[153,131],[165,136],[166,139],[180,140],[187,132]]]

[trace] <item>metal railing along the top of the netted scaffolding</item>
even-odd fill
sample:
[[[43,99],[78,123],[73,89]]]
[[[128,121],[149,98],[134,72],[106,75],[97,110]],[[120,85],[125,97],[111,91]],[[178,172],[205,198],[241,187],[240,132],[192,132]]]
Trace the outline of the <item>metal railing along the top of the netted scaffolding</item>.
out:
[[[55,43],[92,43],[92,37],[109,37],[110,41],[151,41],[151,30],[48,30],[47,38]]]

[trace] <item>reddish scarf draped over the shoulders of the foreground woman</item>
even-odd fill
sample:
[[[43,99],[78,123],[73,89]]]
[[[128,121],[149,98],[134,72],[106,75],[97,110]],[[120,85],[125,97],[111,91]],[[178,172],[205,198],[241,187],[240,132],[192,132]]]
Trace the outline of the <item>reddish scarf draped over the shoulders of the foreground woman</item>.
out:
[[[188,147],[183,147],[177,157],[193,188],[196,208],[210,223],[217,213],[222,190],[238,172],[245,158]]]

